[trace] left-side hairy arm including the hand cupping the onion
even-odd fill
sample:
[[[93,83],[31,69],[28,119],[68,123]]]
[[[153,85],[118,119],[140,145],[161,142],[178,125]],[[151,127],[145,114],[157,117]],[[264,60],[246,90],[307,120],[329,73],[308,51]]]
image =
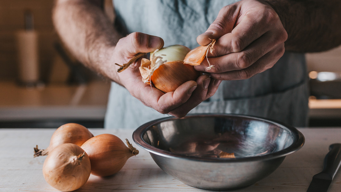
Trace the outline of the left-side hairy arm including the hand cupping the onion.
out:
[[[55,4],[55,28],[66,47],[84,65],[125,87],[146,106],[176,117],[184,117],[216,92],[221,81],[201,75],[175,91],[163,93],[142,82],[140,60],[117,73],[115,63],[127,63],[138,53],[160,49],[164,42],[157,36],[140,32],[122,36],[100,5],[100,0],[57,0]]]

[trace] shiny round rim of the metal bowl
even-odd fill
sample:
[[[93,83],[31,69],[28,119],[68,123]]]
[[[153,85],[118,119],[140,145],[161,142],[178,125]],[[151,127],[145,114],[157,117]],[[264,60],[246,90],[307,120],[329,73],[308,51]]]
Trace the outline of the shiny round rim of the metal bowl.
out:
[[[141,125],[140,127],[138,127],[133,132],[133,135],[132,135],[133,141],[138,146],[140,146],[141,148],[147,150],[150,153],[153,153],[153,154],[156,154],[159,156],[172,158],[172,159],[184,159],[184,160],[201,161],[201,162],[215,162],[215,163],[265,161],[265,160],[277,159],[277,158],[285,157],[288,154],[296,152],[305,143],[305,138],[304,138],[303,134],[300,131],[298,131],[296,128],[294,128],[290,125],[286,125],[284,123],[281,123],[281,122],[278,122],[275,120],[266,119],[263,117],[239,115],[239,114],[223,114],[223,113],[207,114],[206,113],[206,114],[188,114],[186,117],[183,117],[182,119],[193,118],[193,117],[244,117],[244,118],[249,118],[249,119],[254,119],[254,120],[266,121],[268,123],[272,123],[272,124],[278,125],[279,127],[283,127],[283,128],[288,129],[294,137],[294,142],[285,149],[282,149],[282,150],[274,152],[274,153],[264,154],[262,156],[218,159],[218,158],[191,157],[191,156],[186,156],[186,155],[181,155],[181,154],[175,154],[175,153],[172,153],[169,151],[159,149],[157,147],[153,147],[153,146],[149,145],[148,143],[146,143],[144,141],[144,139],[142,138],[142,135],[147,131],[146,129],[148,127],[150,127],[154,124],[164,122],[164,121],[179,119],[177,117],[164,117],[164,118],[160,118],[160,119],[155,119],[153,121],[149,121],[149,122]]]

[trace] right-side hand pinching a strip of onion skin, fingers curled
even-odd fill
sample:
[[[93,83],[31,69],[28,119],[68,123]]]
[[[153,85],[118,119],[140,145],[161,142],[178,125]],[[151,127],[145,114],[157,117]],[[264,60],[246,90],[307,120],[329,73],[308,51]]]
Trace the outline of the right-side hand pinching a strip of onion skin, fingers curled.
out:
[[[262,0],[242,0],[223,7],[207,31],[197,37],[200,45],[216,39],[198,71],[221,80],[248,79],[271,68],[284,54],[287,33],[272,7]]]

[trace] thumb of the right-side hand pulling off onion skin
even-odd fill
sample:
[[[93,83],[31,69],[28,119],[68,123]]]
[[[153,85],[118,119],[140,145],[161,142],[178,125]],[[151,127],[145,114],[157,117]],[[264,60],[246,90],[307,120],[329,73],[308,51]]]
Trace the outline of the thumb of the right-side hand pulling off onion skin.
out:
[[[221,36],[231,33],[238,16],[236,13],[239,13],[236,5],[224,6],[206,32],[196,38],[198,44],[208,45],[212,39],[219,39]]]

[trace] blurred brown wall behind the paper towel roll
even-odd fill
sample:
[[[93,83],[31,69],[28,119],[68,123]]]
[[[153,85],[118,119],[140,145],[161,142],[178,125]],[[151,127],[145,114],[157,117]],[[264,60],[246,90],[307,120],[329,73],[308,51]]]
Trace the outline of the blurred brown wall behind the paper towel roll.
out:
[[[41,78],[46,79],[58,39],[53,29],[51,10],[53,0],[0,0],[0,80],[17,78],[17,48],[15,34],[25,27],[24,13],[30,10],[34,29],[38,33]]]

